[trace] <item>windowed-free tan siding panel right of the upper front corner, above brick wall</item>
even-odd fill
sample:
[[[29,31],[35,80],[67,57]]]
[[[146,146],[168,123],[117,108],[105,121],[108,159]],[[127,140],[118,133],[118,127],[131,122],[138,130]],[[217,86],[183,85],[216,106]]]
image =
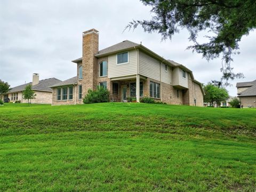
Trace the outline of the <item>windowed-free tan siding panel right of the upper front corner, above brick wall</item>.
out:
[[[139,74],[160,81],[159,61],[140,51]]]

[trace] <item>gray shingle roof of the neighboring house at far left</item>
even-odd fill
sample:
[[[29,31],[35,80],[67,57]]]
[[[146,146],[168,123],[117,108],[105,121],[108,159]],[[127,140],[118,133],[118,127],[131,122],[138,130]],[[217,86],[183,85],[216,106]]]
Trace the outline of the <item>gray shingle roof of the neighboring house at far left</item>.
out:
[[[61,82],[59,79],[57,78],[48,78],[48,79],[43,79],[41,81],[39,81],[38,84],[33,85],[31,87],[32,90],[40,90],[40,91],[52,91],[52,89],[50,88],[51,85],[54,85],[56,83]],[[9,93],[13,93],[13,92],[19,92],[19,91],[24,91],[25,87],[27,85],[32,85],[32,82],[23,84],[23,85],[19,85],[19,86],[15,86],[12,87],[12,89],[9,91]]]

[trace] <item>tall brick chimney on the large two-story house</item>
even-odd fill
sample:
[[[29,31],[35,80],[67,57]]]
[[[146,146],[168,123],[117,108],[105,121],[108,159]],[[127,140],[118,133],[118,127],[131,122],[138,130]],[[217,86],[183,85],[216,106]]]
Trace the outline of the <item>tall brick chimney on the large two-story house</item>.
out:
[[[89,89],[97,88],[98,63],[95,54],[99,52],[99,31],[90,29],[83,32],[83,97]]]

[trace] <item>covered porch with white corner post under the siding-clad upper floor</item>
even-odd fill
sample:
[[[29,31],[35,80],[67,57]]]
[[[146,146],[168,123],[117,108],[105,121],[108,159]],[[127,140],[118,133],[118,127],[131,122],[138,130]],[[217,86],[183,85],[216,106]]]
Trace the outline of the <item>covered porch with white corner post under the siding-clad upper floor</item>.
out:
[[[132,75],[110,79],[110,102],[139,102],[146,95],[149,95],[147,77]]]

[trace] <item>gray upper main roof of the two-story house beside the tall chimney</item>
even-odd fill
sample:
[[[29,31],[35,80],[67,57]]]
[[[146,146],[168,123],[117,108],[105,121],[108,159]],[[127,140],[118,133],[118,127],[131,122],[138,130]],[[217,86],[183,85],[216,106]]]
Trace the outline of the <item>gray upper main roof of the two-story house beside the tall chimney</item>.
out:
[[[97,56],[100,56],[100,55],[113,53],[113,52],[116,52],[116,51],[130,49],[130,48],[132,48],[134,46],[138,46],[138,45],[140,45],[140,44],[125,40],[121,43],[117,43],[115,45],[107,47],[106,49],[100,50],[97,54],[95,54],[95,56],[97,57]],[[78,61],[81,61],[81,60],[82,60],[82,58],[78,58],[76,60],[73,60],[73,62],[78,62]]]

